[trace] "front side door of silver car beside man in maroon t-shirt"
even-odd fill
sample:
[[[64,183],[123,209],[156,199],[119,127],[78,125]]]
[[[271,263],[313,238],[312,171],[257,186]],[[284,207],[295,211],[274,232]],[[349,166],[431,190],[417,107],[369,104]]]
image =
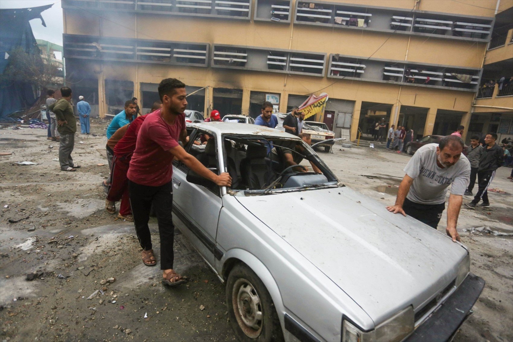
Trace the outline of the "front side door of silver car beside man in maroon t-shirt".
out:
[[[197,146],[192,142],[201,134],[206,134],[206,132],[202,130],[191,132],[189,143],[186,146],[186,151],[198,160],[203,159],[205,145]],[[215,150],[218,152],[217,139],[211,140],[215,142]],[[218,157],[219,153],[216,153],[217,165],[219,165]],[[222,207],[220,187],[216,185],[205,187],[189,183],[187,182],[188,172],[189,168],[183,162],[173,162],[173,214],[185,224],[187,229],[183,234],[213,267],[216,250],[215,236]]]

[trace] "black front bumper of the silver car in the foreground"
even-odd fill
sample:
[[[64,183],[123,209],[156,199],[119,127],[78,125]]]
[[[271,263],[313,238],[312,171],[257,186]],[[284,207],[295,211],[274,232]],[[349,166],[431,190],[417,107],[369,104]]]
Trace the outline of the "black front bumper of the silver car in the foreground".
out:
[[[403,342],[451,340],[483,291],[485,281],[469,273],[460,287]]]

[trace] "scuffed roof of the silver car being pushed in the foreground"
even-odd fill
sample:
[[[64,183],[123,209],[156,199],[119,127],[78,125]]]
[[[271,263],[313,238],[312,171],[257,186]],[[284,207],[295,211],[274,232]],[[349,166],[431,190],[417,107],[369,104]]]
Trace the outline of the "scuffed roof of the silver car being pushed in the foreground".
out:
[[[241,125],[238,122],[202,122],[188,124],[187,127],[207,129],[214,134],[236,134],[241,136],[267,136],[301,140],[301,138],[278,129],[259,125]]]

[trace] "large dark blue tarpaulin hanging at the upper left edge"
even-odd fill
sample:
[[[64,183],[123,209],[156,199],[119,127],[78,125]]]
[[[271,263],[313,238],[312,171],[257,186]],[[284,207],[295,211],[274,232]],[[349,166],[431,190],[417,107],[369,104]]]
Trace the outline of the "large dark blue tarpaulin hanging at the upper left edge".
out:
[[[41,12],[52,5],[0,9],[0,75],[9,64],[9,52],[21,47],[25,52],[40,55],[41,52],[32,33],[29,21],[40,18],[46,27]],[[12,82],[0,79],[0,121],[11,113],[31,107],[37,101],[29,83]]]

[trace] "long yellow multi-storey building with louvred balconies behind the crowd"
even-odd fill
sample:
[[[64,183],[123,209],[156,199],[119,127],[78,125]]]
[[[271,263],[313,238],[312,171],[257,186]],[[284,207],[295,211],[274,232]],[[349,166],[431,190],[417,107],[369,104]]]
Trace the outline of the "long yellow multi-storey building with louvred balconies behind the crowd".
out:
[[[381,118],[417,137],[450,134],[475,117],[487,120],[484,132],[497,116],[481,101],[508,101],[475,98],[494,27],[499,18],[501,30],[511,26],[513,0],[63,0],[62,7],[67,80],[101,117],[132,96],[146,112],[169,77],[196,91],[190,109],[222,115],[255,117],[267,95],[286,112],[326,92],[315,120],[351,140]],[[486,63],[511,59],[510,28]],[[510,77],[511,68],[502,73]]]

